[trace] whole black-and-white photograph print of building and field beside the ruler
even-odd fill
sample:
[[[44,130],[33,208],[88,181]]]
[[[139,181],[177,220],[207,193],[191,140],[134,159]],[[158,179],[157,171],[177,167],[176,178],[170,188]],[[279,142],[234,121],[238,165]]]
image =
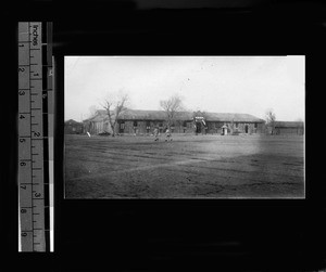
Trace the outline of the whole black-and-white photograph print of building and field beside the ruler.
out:
[[[65,198],[304,198],[305,56],[65,56]]]

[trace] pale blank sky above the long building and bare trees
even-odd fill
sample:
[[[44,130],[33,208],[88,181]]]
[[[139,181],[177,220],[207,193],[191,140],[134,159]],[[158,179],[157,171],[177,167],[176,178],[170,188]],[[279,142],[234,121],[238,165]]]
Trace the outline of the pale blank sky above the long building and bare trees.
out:
[[[65,120],[89,117],[109,93],[134,109],[161,109],[174,94],[187,111],[304,120],[304,56],[65,56]]]

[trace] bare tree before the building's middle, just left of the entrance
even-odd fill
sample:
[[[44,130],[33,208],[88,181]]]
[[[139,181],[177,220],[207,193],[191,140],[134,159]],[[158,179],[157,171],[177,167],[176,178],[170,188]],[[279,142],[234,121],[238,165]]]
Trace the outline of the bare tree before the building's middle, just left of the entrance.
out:
[[[160,101],[161,108],[165,112],[165,120],[167,128],[177,120],[178,114],[184,109],[183,100],[178,94],[171,96],[168,100]]]

